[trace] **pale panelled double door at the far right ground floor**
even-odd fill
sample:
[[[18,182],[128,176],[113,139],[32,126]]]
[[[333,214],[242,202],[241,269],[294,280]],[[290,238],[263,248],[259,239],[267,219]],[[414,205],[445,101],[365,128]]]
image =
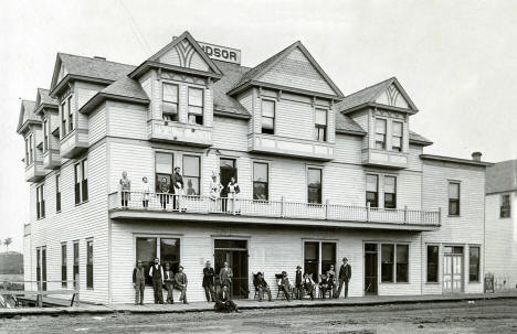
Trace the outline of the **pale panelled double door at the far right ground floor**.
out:
[[[443,249],[443,292],[463,292],[463,247]]]

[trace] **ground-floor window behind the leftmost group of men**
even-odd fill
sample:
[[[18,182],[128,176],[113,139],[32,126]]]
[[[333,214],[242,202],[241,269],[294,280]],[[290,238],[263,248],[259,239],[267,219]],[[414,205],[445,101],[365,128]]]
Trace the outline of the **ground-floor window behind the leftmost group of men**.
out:
[[[155,262],[155,258],[159,258],[161,265],[171,265],[171,270],[178,272],[180,263],[180,239],[169,237],[136,238],[136,261],[141,261],[145,268],[146,284],[148,285],[152,284],[152,279],[149,277],[149,269]]]

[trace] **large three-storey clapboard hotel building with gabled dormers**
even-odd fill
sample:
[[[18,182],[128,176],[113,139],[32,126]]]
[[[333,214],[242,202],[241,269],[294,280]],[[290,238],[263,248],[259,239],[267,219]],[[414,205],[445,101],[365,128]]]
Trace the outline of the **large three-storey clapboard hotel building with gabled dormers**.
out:
[[[57,54],[18,127],[27,280],[78,274],[82,299],[129,303],[136,260],[158,257],[184,267],[200,301],[204,261],[229,261],[231,293],[247,299],[254,272],[275,293],[276,273],[302,266],[318,281],[347,257],[350,295],[483,291],[489,163],[424,154],[394,77],[344,96],[300,42],[255,67],[240,58],[188,32],[138,66]],[[176,168],[184,194],[165,195]]]

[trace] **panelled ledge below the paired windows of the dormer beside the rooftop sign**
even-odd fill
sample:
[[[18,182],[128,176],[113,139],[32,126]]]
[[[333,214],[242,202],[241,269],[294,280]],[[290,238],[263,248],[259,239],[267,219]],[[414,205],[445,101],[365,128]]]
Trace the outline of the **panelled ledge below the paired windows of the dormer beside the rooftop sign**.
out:
[[[190,144],[207,148],[212,146],[212,129],[198,125],[151,119],[148,121],[149,140]]]

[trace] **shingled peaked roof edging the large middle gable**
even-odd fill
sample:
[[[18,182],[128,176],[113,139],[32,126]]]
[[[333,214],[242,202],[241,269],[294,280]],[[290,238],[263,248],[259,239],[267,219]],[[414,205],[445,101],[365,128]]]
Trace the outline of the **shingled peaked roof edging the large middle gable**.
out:
[[[235,84],[235,86],[232,89],[232,93],[236,93],[245,86],[246,84],[251,84],[254,80],[260,82],[260,77],[265,74],[270,68],[272,68],[274,65],[276,65],[279,61],[282,61],[284,57],[291,54],[291,52],[298,47],[302,53],[309,60],[309,62],[313,64],[313,66],[316,68],[316,71],[325,78],[326,83],[330,86],[330,88],[335,91],[337,97],[342,97],[341,90],[338,88],[338,86],[330,79],[330,77],[325,73],[325,71],[319,66],[319,64],[315,61],[313,55],[308,52],[308,50],[302,44],[300,41],[296,41],[286,49],[282,50],[281,52],[274,54],[273,56],[268,57],[264,62],[260,63],[252,69],[250,69],[242,78],[239,80],[239,83]],[[231,94],[232,94],[231,93]]]

